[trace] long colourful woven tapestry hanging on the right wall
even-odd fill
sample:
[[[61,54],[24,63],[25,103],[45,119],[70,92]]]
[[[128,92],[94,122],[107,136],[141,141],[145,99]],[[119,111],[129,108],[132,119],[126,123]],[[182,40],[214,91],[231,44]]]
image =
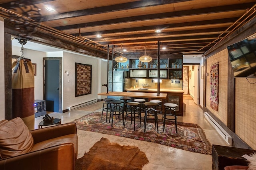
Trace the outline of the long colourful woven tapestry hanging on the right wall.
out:
[[[211,70],[210,70],[210,90],[211,90],[211,95],[210,95],[210,101],[211,104],[210,106],[212,109],[218,111],[218,84],[219,84],[219,64],[213,64],[211,65]]]

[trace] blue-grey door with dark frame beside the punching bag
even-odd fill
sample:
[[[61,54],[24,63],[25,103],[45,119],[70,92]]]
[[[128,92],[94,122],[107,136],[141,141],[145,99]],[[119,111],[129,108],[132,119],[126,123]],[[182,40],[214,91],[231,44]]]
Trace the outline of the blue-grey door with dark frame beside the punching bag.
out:
[[[43,58],[46,111],[62,113],[62,58]]]

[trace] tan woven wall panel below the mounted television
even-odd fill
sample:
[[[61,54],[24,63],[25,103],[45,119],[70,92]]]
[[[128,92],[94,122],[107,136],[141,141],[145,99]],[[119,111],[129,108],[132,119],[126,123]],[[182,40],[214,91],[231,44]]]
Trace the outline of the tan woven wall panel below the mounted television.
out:
[[[235,133],[256,149],[256,78],[235,78]]]

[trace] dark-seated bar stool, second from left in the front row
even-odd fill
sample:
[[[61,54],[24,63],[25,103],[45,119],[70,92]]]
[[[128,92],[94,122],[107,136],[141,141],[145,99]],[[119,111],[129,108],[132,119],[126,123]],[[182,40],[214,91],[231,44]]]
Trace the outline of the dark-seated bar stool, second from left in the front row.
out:
[[[122,115],[122,120],[123,120],[123,125],[124,125],[124,111],[123,111],[123,107],[121,106],[122,103],[123,102],[121,100],[113,100],[113,101],[110,102],[111,109],[110,109],[110,115],[109,115],[108,123],[110,123],[110,117],[112,117],[111,126],[113,126],[114,115],[119,116],[119,121],[121,121],[121,115]],[[118,113],[116,113],[116,111],[118,111]]]

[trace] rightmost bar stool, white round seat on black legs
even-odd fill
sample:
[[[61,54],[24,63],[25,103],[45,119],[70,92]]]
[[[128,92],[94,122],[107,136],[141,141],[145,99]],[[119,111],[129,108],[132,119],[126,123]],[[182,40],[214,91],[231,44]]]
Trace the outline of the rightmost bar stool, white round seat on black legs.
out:
[[[175,109],[178,105],[174,104],[174,103],[165,103],[164,106],[165,106],[165,111],[164,111],[164,127],[165,127],[165,119],[167,119],[167,120],[175,120],[176,134],[178,135],[177,116],[176,116],[176,109]],[[167,111],[169,111],[168,114],[167,114]],[[168,116],[168,118],[166,118],[166,116]],[[169,116],[171,116],[173,118],[171,118]],[[164,131],[164,129],[163,129],[163,131]]]

